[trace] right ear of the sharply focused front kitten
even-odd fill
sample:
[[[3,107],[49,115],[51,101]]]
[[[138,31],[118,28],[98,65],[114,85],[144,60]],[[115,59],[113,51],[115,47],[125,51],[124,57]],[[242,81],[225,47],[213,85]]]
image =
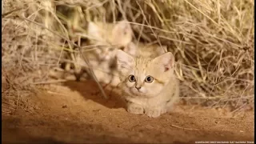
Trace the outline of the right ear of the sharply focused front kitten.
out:
[[[169,71],[174,67],[174,55],[171,52],[167,52],[166,54],[162,54],[157,58],[154,58],[154,64],[160,67],[162,72]]]

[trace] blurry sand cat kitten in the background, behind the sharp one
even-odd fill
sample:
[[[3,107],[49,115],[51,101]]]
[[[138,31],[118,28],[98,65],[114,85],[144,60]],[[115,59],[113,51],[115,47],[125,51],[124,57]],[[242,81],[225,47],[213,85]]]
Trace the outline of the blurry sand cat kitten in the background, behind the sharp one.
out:
[[[118,23],[89,22],[87,31],[89,45],[93,46],[93,49],[87,49],[87,52],[83,54],[89,58],[98,81],[110,83],[112,68],[116,65],[115,50],[125,48],[132,40],[133,32],[130,24],[126,21]],[[128,47],[123,50],[127,51]],[[78,63],[86,65],[79,57]]]

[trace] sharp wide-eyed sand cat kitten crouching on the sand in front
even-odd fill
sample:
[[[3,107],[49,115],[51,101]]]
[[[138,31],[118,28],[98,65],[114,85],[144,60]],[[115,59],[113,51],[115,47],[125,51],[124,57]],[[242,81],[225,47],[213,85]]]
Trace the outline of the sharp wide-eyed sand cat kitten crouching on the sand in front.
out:
[[[178,79],[174,75],[174,56],[170,52],[156,55],[136,54],[132,57],[117,51],[122,96],[127,111],[157,118],[178,100]]]

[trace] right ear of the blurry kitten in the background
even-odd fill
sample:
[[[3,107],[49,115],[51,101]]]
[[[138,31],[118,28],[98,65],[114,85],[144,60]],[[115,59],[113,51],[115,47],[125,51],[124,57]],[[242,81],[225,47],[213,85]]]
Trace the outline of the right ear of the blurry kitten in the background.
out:
[[[116,45],[126,46],[132,40],[133,31],[130,23],[123,20],[115,24],[112,30],[113,42]]]

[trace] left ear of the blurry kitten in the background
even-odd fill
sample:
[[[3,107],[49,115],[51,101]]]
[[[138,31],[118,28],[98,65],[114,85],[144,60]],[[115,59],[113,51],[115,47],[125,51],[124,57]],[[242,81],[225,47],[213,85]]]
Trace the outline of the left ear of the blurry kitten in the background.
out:
[[[94,22],[88,22],[87,34],[90,38],[102,39],[101,30]]]

